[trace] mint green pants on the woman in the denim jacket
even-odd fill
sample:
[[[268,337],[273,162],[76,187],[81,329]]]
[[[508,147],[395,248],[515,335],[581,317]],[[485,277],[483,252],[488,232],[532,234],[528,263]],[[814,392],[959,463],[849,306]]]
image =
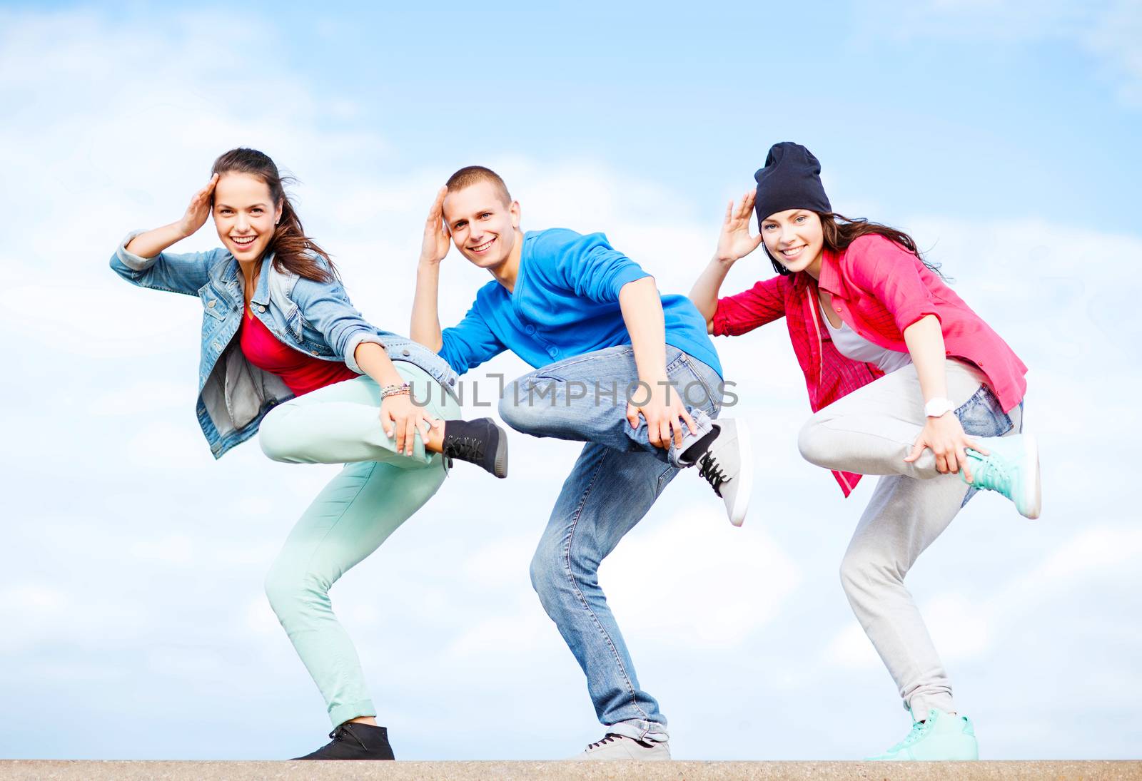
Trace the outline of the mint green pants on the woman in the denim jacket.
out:
[[[460,408],[419,367],[395,362],[417,400],[437,418]],[[266,595],[286,634],[325,698],[333,725],[376,716],[361,662],[329,599],[337,579],[388,539],[444,482],[439,453],[417,436],[397,454],[380,425],[380,389],[357,377],[293,398],[262,421],[266,456],[290,464],[345,464],[293,526],[266,577]]]

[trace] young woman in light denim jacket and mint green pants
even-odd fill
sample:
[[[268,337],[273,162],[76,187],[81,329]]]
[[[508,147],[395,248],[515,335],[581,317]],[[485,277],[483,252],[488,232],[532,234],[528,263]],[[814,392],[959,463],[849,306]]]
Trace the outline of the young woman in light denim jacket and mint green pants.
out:
[[[329,589],[436,492],[450,458],[506,476],[507,438],[488,418],[458,419],[443,360],[361,316],[283,185],[265,154],[227,152],[180,220],[130,233],[111,266],[201,299],[196,412],[216,458],[260,428],[274,460],[345,464],[293,528],[266,594],[335,727],[301,758],[392,759]],[[222,248],[164,251],[209,215]]]

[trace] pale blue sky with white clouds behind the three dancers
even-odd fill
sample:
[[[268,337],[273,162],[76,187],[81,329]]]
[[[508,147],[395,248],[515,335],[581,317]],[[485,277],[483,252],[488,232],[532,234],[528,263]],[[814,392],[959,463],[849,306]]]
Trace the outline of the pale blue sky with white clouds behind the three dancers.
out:
[[[106,269],[219,152],[297,174],[354,300],[402,331],[424,212],[460,166],[500,170],[524,227],[604,231],[684,292],[725,199],[791,139],[838,210],[932,248],[1031,367],[1043,518],[981,497],[909,577],[982,756],[1136,757],[1142,14],[1071,5],[5,3],[0,756],[273,758],[328,728],[262,578],[331,472],[250,446],[215,462],[196,304]],[[445,264],[458,320],[486,276]],[[770,273],[747,258],[725,290]],[[907,732],[836,575],[870,489],[842,500],[797,456],[787,341],[716,343],[765,443],[746,525],[679,478],[602,572],[678,758],[855,758]],[[455,474],[335,588],[402,758],[555,758],[601,734],[526,577],[576,448],[513,449],[508,484]]]

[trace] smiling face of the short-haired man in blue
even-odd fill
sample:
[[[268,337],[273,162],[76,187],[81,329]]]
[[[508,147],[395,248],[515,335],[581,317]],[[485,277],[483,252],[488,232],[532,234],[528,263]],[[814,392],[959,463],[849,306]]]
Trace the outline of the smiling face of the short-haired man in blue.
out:
[[[515,247],[520,203],[482,180],[444,196],[444,222],[460,253],[481,268],[502,265]]]

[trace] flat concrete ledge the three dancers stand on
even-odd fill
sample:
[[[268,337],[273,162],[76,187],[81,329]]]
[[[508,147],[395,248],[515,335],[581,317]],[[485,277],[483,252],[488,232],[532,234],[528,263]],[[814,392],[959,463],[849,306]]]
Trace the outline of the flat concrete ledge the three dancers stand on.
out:
[[[0,760],[0,781],[214,781],[234,779],[586,779],[588,781],[723,781],[727,779],[1142,779],[1142,762],[63,762]]]

